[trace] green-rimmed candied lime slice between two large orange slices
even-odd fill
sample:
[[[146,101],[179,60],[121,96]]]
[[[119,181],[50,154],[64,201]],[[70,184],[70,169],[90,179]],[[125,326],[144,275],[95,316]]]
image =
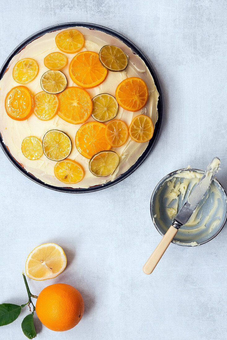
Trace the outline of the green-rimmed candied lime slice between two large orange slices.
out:
[[[108,93],[102,93],[92,99],[92,117],[98,122],[108,122],[118,114],[118,102]]]

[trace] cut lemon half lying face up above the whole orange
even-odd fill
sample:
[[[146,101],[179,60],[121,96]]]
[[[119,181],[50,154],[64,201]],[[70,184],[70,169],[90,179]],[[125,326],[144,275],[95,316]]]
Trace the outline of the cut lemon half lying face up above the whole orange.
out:
[[[58,276],[65,269],[67,259],[63,249],[55,243],[37,246],[26,260],[26,274],[36,281]]]

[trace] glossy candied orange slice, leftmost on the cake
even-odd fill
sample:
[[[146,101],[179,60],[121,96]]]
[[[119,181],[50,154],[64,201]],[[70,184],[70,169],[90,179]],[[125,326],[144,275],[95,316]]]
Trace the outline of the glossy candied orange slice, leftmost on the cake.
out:
[[[25,120],[33,110],[33,98],[26,86],[12,88],[5,97],[5,111],[15,120]]]

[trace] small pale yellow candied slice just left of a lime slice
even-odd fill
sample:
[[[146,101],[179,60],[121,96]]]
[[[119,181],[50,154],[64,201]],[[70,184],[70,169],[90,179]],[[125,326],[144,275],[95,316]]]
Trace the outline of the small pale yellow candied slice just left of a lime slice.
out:
[[[39,159],[43,154],[42,142],[34,136],[26,137],[22,141],[21,151],[28,159]]]

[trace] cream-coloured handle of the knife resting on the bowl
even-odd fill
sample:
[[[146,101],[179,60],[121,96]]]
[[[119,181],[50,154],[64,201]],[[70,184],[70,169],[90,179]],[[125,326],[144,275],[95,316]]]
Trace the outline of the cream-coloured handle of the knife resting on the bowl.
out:
[[[162,241],[157,245],[149,259],[143,266],[143,272],[145,274],[149,275],[153,272],[154,268],[157,266],[162,255],[165,253],[166,249],[170,245],[172,239],[177,234],[177,232],[178,229],[171,225],[166,234],[163,236]]]

